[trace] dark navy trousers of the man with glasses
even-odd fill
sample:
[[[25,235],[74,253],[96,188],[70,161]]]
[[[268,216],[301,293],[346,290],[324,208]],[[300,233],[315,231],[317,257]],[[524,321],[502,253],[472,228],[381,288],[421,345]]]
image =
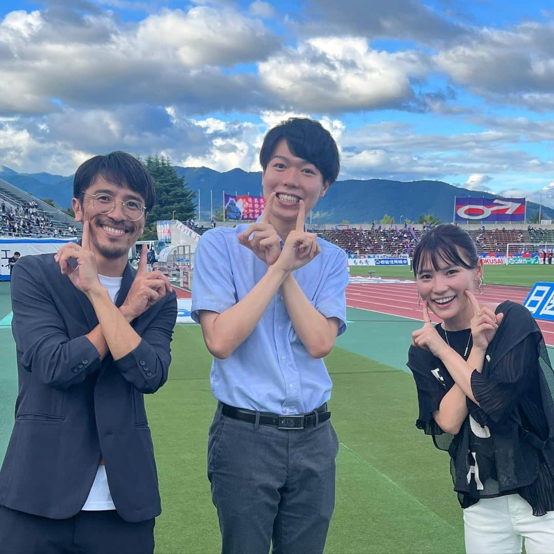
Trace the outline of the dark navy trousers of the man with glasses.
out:
[[[152,554],[155,520],[129,523],[115,510],[54,520],[0,506],[2,554]]]

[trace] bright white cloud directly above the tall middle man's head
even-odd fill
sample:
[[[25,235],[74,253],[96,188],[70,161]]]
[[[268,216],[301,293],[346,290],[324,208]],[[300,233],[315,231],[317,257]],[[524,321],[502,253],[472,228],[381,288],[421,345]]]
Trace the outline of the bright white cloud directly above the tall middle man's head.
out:
[[[285,104],[312,112],[372,110],[413,98],[412,75],[427,70],[416,52],[377,52],[362,38],[312,38],[259,64],[260,78]]]

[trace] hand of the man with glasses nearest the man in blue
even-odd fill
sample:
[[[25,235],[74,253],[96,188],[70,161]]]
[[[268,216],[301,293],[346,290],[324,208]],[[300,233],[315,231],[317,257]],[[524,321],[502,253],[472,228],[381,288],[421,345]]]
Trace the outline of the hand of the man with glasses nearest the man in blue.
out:
[[[127,293],[125,301],[120,306],[121,313],[131,322],[142,315],[150,306],[162,299],[167,293],[171,293],[170,280],[161,271],[146,271],[146,257],[148,247],[142,245],[139,269]]]

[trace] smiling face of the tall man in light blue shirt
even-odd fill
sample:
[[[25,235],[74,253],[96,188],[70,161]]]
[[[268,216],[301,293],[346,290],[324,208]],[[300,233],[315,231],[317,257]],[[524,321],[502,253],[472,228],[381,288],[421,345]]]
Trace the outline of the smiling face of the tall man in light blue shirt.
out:
[[[329,183],[317,167],[302,158],[296,157],[284,139],[280,140],[271,156],[262,177],[264,198],[267,201],[272,192],[276,193],[271,212],[271,222],[296,224],[299,201],[304,201],[306,213],[324,196]]]

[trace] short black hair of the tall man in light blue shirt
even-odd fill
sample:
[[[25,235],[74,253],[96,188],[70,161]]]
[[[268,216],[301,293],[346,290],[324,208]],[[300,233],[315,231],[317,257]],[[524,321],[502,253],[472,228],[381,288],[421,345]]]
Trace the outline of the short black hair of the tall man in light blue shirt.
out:
[[[290,117],[270,129],[260,150],[260,164],[264,171],[280,140],[286,141],[296,157],[313,163],[321,172],[324,182],[331,184],[337,180],[340,171],[337,144],[319,121],[307,117]]]

